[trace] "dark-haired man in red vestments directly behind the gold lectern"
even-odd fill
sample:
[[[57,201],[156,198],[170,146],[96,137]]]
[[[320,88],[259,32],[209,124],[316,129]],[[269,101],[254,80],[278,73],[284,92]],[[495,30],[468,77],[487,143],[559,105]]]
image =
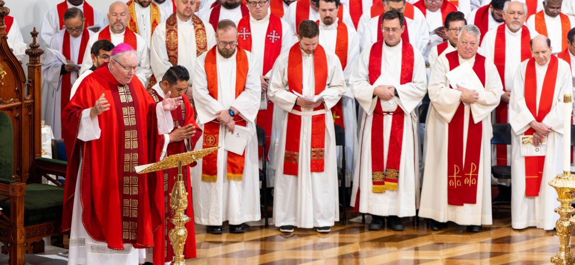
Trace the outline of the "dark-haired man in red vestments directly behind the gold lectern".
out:
[[[174,130],[170,133],[170,144],[168,144],[167,155],[182,154],[191,151],[196,147],[198,139],[202,135],[202,131],[198,128],[194,120],[194,109],[191,107],[190,101],[184,96],[186,89],[188,89],[188,82],[190,74],[187,69],[181,65],[170,67],[163,75],[162,80],[155,84],[154,87],[148,89],[148,93],[152,95],[156,103],[161,102],[168,92],[171,98],[182,97],[183,103],[180,104],[175,110],[171,111],[172,119],[174,120]],[[191,166],[195,166],[196,162]],[[184,176],[184,186],[187,192],[187,209],[184,211],[185,215],[191,218],[191,221],[186,223],[187,239],[183,255],[186,259],[196,258],[196,236],[194,236],[194,211],[191,198],[191,179],[190,179],[190,166],[182,168]],[[155,264],[164,264],[164,262],[171,262],[174,256],[174,249],[170,244],[168,232],[174,227],[168,218],[174,211],[170,206],[170,193],[174,188],[175,176],[178,175],[178,169],[164,170],[163,176],[163,197],[164,197],[164,215],[163,224],[154,233],[154,248],[148,249],[146,260],[154,262]],[[153,258],[152,258],[153,257]]]

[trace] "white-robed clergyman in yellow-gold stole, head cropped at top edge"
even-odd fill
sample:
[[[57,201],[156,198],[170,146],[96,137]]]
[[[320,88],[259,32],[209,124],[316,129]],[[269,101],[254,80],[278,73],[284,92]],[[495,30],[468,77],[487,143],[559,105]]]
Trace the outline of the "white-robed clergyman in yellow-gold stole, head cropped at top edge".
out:
[[[163,21],[160,7],[152,0],[130,0],[126,5],[128,5],[130,14],[128,28],[144,38],[150,46],[154,30]]]

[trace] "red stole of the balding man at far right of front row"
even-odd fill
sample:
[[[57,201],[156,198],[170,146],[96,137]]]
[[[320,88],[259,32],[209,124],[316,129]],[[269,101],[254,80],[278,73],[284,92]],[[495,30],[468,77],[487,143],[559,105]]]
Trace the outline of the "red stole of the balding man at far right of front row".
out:
[[[551,111],[555,94],[555,81],[557,80],[558,59],[551,56],[549,66],[543,79],[541,97],[539,99],[539,109],[536,108],[537,98],[537,75],[535,71],[535,59],[529,59],[525,70],[525,103],[537,122],[542,122],[545,116]],[[533,135],[535,130],[529,128],[525,135]],[[539,196],[541,180],[543,178],[543,166],[545,156],[525,157],[525,196]]]

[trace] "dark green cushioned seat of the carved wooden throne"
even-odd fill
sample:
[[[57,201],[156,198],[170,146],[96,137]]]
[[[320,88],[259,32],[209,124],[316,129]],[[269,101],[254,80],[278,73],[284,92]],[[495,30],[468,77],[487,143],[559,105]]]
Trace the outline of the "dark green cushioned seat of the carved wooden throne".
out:
[[[40,224],[62,219],[64,189],[46,184],[26,185],[24,196],[24,225]],[[10,201],[0,202],[2,213],[10,215]]]

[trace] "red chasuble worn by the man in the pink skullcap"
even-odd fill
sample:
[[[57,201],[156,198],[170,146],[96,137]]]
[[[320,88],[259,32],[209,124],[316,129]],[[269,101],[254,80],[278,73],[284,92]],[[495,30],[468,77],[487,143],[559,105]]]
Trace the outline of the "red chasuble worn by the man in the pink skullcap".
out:
[[[110,110],[97,116],[101,135],[83,142],[77,138],[82,111],[102,94]],[[107,63],[82,81],[62,112],[68,157],[63,232],[70,231],[74,196],[80,196],[82,223],[94,240],[112,250],[124,250],[127,243],[135,248],[154,245],[153,232],[162,224],[164,211],[162,179],[137,174],[134,167],[158,160],[154,147],[163,146],[164,137],[158,135],[156,117],[156,103],[141,82],[134,78],[128,85],[118,83]]]

